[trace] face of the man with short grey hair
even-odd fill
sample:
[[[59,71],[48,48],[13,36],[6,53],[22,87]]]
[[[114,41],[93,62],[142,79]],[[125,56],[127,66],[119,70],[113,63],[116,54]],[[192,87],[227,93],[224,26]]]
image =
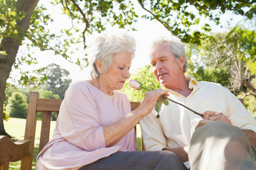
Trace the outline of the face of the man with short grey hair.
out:
[[[177,61],[168,46],[160,44],[151,49],[150,64],[160,84],[170,89],[179,87],[179,79],[184,76],[184,57]]]

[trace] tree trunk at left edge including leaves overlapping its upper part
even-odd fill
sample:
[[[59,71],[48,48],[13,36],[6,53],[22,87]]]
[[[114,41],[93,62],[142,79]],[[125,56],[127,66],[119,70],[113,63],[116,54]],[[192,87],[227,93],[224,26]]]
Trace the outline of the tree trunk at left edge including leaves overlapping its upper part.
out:
[[[0,15],[3,16],[0,19],[0,134],[8,137],[10,135],[3,128],[6,80],[9,78],[19,46],[22,44],[38,1],[0,1]]]

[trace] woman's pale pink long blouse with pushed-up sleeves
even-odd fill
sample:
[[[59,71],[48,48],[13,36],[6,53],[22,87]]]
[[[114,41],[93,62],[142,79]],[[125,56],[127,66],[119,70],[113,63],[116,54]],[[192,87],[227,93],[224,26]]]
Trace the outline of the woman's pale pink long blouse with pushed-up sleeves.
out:
[[[78,169],[118,151],[135,151],[134,129],[112,147],[105,146],[102,131],[102,126],[130,112],[130,101],[121,92],[109,96],[87,81],[71,83],[53,138],[36,158],[36,169]]]

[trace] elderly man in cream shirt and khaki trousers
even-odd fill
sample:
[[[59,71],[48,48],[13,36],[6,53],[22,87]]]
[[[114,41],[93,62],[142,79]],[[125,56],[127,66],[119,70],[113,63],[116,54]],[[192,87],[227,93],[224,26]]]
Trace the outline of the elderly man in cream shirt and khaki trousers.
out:
[[[141,121],[144,147],[174,152],[191,169],[256,169],[256,120],[227,88],[185,76],[184,44],[175,36],[153,42],[150,63],[169,102],[160,117],[153,110]],[[188,166],[189,166],[188,164]]]

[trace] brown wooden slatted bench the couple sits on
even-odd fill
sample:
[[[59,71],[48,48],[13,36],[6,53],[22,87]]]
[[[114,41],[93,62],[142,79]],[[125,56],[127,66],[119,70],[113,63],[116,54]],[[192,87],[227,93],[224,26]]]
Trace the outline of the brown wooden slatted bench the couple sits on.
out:
[[[32,168],[37,113],[43,112],[39,144],[40,152],[49,142],[51,114],[56,112],[57,118],[61,102],[62,100],[56,99],[39,99],[38,92],[30,92],[24,140],[13,142],[6,136],[0,136],[0,170],[9,169],[10,162],[16,162],[20,159],[22,160],[20,169],[27,170]],[[131,101],[130,103],[131,111],[140,104],[138,101]]]

